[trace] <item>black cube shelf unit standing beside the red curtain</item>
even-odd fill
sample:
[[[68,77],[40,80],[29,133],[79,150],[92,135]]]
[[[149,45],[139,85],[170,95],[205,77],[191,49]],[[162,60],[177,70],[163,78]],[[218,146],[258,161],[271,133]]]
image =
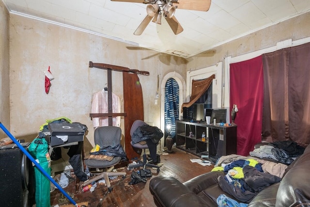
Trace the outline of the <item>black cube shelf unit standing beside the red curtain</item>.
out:
[[[189,136],[189,132],[193,136]],[[202,132],[207,136],[202,142]],[[207,125],[206,122],[176,122],[176,147],[201,157],[218,158],[237,153],[237,126]]]

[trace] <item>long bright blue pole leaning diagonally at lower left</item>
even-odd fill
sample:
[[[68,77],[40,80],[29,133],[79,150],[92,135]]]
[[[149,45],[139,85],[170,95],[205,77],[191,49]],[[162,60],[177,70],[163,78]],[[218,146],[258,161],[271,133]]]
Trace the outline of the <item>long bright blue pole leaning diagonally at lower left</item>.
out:
[[[11,138],[11,140],[18,146],[18,148],[37,166],[37,168],[45,175],[61,192],[64,196],[66,196],[69,201],[76,207],[78,207],[78,204],[62,189],[62,187],[53,179],[51,176],[47,174],[47,172],[41,167],[41,165],[32,158],[31,154],[16,140],[16,138],[3,126],[3,124],[0,122],[0,128]]]

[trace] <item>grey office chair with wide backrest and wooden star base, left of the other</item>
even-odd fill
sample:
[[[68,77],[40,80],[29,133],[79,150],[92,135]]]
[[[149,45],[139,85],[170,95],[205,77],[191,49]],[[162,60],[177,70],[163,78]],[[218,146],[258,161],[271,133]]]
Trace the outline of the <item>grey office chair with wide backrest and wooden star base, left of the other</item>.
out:
[[[94,143],[98,144],[100,147],[116,146],[121,143],[122,129],[120,127],[105,126],[98,127],[94,131]],[[125,178],[125,172],[111,172],[114,166],[121,161],[121,157],[113,157],[111,161],[108,160],[97,160],[97,159],[85,159],[84,163],[89,168],[96,168],[96,172],[93,173],[93,178],[86,180],[83,186],[96,181],[98,179],[104,178],[108,187],[108,191],[112,191],[112,187],[109,181],[109,176],[123,176]],[[102,169],[102,170],[100,170]]]

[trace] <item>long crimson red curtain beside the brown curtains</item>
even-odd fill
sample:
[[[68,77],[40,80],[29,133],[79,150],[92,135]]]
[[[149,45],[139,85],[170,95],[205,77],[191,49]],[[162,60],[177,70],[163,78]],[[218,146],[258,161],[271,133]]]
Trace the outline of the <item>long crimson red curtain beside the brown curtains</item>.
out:
[[[263,116],[262,56],[230,64],[230,110],[237,104],[237,154],[248,156],[261,142]]]

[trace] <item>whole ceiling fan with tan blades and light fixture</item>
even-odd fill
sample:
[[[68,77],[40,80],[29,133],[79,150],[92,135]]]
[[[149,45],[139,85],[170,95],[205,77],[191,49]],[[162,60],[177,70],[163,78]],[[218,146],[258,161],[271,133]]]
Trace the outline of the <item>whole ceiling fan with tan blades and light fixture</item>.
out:
[[[141,35],[152,19],[153,19],[152,22],[161,24],[161,16],[165,17],[174,34],[179,34],[183,32],[183,28],[174,16],[175,10],[177,8],[206,12],[209,10],[211,4],[211,0],[111,0],[111,1],[124,1],[124,2],[148,4],[146,7],[147,16],[145,16],[145,18],[142,20],[137,30],[134,32],[135,35]]]

